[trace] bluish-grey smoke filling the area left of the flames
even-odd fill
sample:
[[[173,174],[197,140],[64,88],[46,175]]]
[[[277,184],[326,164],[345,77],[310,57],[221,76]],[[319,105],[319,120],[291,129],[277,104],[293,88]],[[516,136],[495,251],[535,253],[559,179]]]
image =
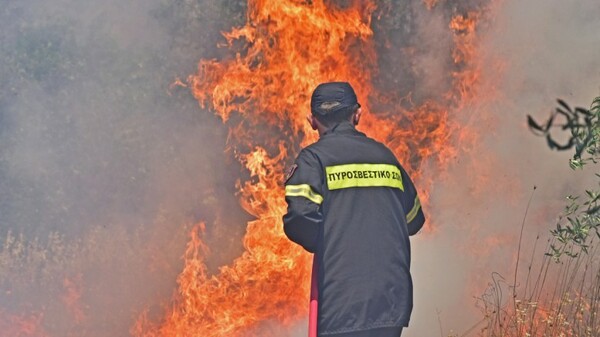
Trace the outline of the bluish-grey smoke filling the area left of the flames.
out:
[[[40,335],[124,336],[172,295],[191,225],[210,221],[223,250],[209,268],[240,254],[249,217],[227,130],[171,87],[215,56],[243,15],[229,5],[3,1],[1,316],[42,313]]]

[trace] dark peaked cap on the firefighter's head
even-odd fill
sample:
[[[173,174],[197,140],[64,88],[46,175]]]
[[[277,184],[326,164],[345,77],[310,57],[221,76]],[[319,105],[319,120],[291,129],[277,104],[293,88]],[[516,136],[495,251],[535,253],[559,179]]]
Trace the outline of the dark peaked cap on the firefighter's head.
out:
[[[323,103],[338,103],[334,104],[330,109],[324,110],[321,105]],[[341,109],[356,106],[360,107],[356,99],[354,89],[348,82],[328,82],[321,83],[313,91],[310,99],[310,111],[313,115],[325,117],[331,115]]]

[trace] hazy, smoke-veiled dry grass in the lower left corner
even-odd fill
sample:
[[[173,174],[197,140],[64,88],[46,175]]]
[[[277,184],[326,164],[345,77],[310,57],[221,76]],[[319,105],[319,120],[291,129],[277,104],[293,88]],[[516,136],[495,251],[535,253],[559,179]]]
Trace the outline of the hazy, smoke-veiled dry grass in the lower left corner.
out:
[[[171,296],[186,240],[186,226],[166,224],[97,226],[71,241],[9,232],[0,243],[0,327],[38,331],[23,336],[126,335],[139,312],[160,310]]]

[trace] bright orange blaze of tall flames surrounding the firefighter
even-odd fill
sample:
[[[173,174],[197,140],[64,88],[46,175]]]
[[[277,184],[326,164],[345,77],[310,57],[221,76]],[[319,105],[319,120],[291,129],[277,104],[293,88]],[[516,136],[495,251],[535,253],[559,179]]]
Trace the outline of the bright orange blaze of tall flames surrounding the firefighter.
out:
[[[426,5],[432,8],[436,1]],[[421,164],[443,166],[457,151],[452,138],[468,138],[468,130],[459,132],[449,120],[449,111],[474,95],[478,68],[472,58],[480,15],[458,15],[449,23],[455,70],[448,76],[455,89],[410,109],[396,105],[375,112],[372,103],[392,95],[373,88],[375,10],[374,1],[333,8],[323,0],[250,0],[246,25],[225,33],[235,56],[200,62],[187,85],[229,126],[228,146],[250,173],[248,181],[239,182],[241,204],[256,220],[248,223],[243,255],[213,276],[203,263],[208,248],[199,225],[164,321],[153,324],[144,316],[134,335],[281,335],[265,324],[287,327],[307,316],[311,259],[283,234],[282,172],[299,146],[316,140],[305,118],[310,93],[321,82],[352,83],[367,112],[359,128],[393,149],[427,199]]]

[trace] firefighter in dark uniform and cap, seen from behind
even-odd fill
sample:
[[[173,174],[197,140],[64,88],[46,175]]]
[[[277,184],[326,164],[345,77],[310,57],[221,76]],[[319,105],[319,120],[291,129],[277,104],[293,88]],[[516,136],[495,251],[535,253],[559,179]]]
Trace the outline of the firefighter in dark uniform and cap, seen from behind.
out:
[[[287,172],[284,231],[315,254],[318,336],[399,337],[413,307],[409,235],[425,216],[394,154],[355,129],[361,113],[349,83],[314,90],[319,140]]]

